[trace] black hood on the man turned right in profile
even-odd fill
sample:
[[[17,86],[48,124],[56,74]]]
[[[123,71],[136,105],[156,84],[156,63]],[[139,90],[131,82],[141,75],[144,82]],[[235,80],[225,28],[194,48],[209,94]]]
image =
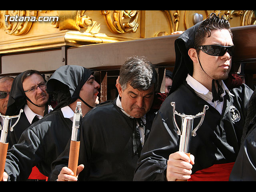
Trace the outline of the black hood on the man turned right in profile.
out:
[[[82,66],[65,65],[58,68],[48,80],[46,89],[57,101],[54,111],[75,102],[78,98],[82,100],[79,97],[80,89],[92,74],[94,72]],[[82,102],[88,105],[85,101]]]

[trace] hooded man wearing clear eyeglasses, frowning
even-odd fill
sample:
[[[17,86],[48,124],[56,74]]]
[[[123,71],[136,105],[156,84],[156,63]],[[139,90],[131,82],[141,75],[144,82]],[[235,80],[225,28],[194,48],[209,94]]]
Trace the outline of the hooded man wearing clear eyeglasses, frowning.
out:
[[[16,76],[12,84],[6,115],[14,116],[23,109],[20,119],[9,134],[8,148],[18,143],[26,128],[52,111],[46,92],[46,80],[36,70],[26,70]],[[15,120],[14,120],[15,122]],[[33,167],[29,181],[46,180],[46,176]]]

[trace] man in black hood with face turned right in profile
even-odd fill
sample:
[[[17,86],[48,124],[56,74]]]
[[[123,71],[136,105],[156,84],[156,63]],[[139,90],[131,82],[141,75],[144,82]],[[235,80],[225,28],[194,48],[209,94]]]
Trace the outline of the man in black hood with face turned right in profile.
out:
[[[86,114],[98,101],[98,88],[93,72],[82,66],[62,66],[47,82],[47,92],[58,102],[54,110],[26,129],[17,144],[8,150],[5,172],[8,180],[26,180],[33,166],[50,174],[50,165],[64,150],[72,131],[76,102],[82,102]],[[4,175],[5,180],[7,175]]]

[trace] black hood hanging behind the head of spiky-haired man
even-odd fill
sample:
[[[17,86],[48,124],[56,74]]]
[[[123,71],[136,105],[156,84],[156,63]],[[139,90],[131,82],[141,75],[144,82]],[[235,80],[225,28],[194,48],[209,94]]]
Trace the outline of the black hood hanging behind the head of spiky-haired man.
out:
[[[174,42],[176,60],[172,72],[172,88],[169,95],[174,92],[186,80],[188,74],[193,73],[193,62],[188,56],[188,50],[194,48],[195,34],[202,22],[184,31]]]

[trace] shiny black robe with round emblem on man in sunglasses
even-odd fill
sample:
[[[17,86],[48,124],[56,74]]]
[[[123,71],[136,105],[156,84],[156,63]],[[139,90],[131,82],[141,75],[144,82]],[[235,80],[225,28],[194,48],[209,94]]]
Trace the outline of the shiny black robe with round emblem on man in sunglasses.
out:
[[[214,164],[234,162],[240,148],[246,106],[252,90],[243,84],[230,92],[235,96],[226,92],[222,114],[198,97],[186,82],[168,96],[154,119],[150,135],[138,160],[134,180],[166,179],[169,155],[179,150],[180,142],[172,118],[171,102],[175,102],[175,110],[178,113],[186,115],[196,115],[203,111],[204,105],[209,106],[202,126],[197,130],[196,136],[191,138],[189,152],[195,156],[192,174]],[[239,110],[238,122],[232,121],[230,106],[235,106]],[[181,128],[181,121],[177,115],[176,120]],[[194,119],[194,127],[199,120],[200,118]]]

